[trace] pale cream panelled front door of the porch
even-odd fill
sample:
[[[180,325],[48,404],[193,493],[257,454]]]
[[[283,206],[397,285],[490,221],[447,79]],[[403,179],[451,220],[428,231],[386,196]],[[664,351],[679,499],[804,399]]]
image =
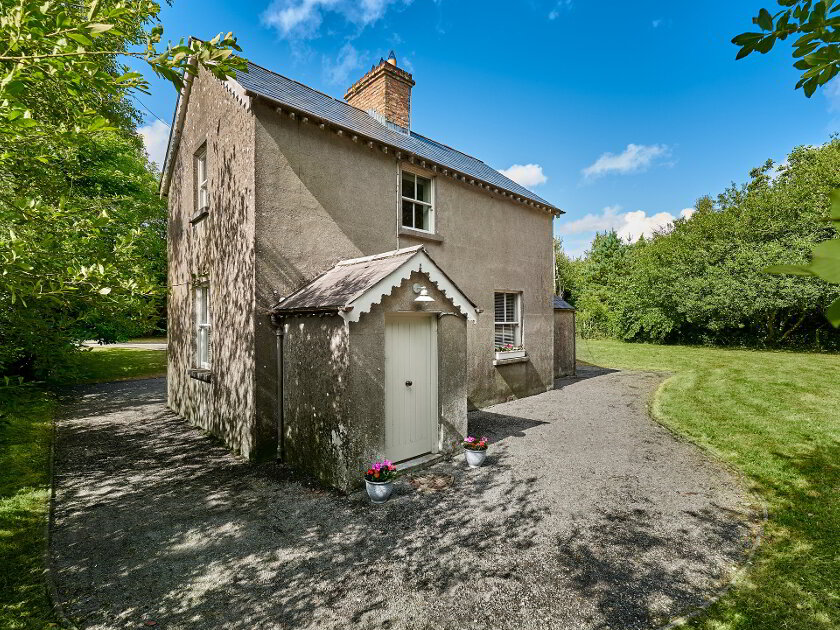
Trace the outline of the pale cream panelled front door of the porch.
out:
[[[437,319],[385,315],[385,456],[438,450]]]

